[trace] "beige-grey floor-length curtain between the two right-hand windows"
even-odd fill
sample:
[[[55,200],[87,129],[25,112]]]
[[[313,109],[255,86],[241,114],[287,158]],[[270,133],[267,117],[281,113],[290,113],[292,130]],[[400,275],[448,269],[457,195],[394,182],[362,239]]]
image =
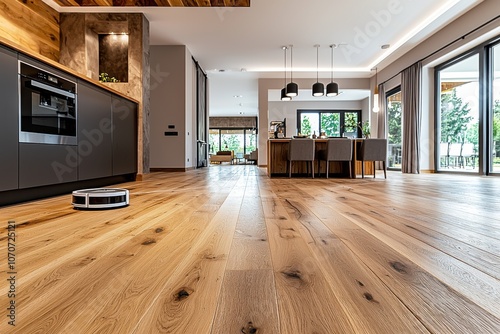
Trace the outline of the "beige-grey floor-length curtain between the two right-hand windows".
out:
[[[401,72],[403,109],[401,171],[403,173],[420,173],[421,78],[421,62]]]

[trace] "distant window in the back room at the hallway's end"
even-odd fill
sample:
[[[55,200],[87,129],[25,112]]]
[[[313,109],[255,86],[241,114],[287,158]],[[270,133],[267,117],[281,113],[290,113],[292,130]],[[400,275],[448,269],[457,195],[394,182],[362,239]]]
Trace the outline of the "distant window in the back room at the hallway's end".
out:
[[[234,151],[248,154],[257,147],[257,134],[253,129],[210,129],[210,154]]]

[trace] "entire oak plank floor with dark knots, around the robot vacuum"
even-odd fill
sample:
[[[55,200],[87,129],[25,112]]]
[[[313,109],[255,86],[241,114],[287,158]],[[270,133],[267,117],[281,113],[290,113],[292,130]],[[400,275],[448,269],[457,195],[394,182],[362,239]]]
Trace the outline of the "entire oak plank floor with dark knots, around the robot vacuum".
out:
[[[0,208],[0,333],[500,333],[499,178],[265,172],[153,173],[114,210]]]

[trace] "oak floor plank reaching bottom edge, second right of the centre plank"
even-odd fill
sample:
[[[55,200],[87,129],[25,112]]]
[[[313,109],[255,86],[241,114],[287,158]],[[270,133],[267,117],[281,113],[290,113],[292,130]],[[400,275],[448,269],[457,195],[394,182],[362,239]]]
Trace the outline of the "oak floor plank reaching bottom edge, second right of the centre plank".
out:
[[[353,324],[353,329],[344,333],[429,333],[306,206],[286,199],[288,196],[284,193],[280,195],[282,205],[299,223],[297,228],[302,238],[308,240],[315,259],[322,264],[323,275],[339,298],[340,307]],[[302,199],[308,197],[305,193],[300,195]]]

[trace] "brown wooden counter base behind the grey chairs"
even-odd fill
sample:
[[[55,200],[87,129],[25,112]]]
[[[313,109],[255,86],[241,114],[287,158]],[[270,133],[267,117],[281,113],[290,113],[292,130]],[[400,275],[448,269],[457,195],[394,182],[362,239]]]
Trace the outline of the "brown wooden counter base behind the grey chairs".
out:
[[[269,176],[288,176],[288,147],[290,138],[284,139],[269,139],[267,141],[267,174]],[[316,156],[319,150],[326,149],[327,139],[315,139]],[[353,160],[351,164],[352,177],[361,175],[361,161],[357,160],[357,151],[360,149],[363,139],[352,139],[353,145]],[[318,174],[326,175],[326,163],[323,161],[319,164],[318,160],[314,163],[315,177]],[[296,161],[292,164],[292,175],[306,175],[307,164],[305,162]],[[373,163],[365,162],[365,175],[373,174]],[[343,161],[330,162],[329,177],[349,177],[349,163]]]

